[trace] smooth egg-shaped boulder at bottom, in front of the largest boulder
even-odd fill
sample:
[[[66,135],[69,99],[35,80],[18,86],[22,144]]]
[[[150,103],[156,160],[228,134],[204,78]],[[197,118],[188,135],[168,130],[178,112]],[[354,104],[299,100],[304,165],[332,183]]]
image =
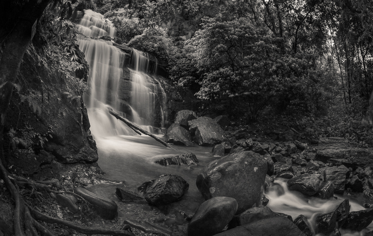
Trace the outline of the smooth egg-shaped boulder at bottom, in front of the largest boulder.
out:
[[[188,224],[188,235],[212,236],[222,232],[236,210],[234,198],[215,197],[203,202]]]

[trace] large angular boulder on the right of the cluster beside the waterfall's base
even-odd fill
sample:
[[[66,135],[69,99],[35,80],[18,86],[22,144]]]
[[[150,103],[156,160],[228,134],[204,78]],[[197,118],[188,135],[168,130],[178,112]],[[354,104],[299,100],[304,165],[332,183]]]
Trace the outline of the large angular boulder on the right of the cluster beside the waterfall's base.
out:
[[[227,140],[220,125],[209,117],[188,122],[193,141],[200,146],[214,146]]]

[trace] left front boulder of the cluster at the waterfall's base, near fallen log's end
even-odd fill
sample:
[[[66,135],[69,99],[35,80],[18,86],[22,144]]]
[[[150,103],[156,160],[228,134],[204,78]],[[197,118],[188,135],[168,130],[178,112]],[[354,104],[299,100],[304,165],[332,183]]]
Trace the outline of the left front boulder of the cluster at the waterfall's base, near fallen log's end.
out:
[[[192,137],[190,136],[189,131],[176,123],[172,124],[167,129],[166,143],[193,146]]]

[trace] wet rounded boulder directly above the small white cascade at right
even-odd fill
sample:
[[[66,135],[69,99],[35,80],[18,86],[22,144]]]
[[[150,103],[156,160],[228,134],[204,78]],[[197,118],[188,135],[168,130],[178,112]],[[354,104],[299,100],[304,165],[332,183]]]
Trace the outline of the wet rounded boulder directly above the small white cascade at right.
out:
[[[303,174],[288,180],[288,189],[312,196],[319,190],[320,180],[315,175]]]

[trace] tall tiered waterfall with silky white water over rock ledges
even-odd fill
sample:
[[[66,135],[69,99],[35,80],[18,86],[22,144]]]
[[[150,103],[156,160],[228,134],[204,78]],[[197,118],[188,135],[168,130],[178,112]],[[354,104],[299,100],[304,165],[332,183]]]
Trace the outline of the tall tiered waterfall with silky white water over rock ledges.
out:
[[[101,36],[115,37],[116,33],[113,23],[100,13],[85,10],[78,31],[83,34],[78,35],[79,49],[90,65],[90,89],[83,98],[93,135],[105,137],[135,134],[127,125],[110,115],[107,106],[149,132],[154,132],[155,114],[159,114],[157,124],[163,127],[166,94],[155,76],[148,74],[156,71],[156,66],[154,71],[149,71],[148,55],[134,49],[131,58],[126,58],[126,53],[113,46],[112,42],[99,39]],[[130,99],[123,101],[118,88],[123,84],[123,68],[127,65],[133,68],[129,69],[131,93]],[[131,111],[130,114],[126,109]]]

